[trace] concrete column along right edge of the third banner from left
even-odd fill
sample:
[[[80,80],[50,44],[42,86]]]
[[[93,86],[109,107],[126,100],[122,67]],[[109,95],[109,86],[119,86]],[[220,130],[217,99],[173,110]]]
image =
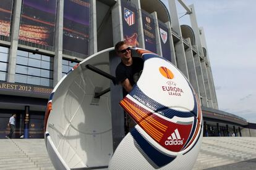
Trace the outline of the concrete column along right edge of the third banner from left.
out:
[[[95,54],[97,48],[96,0],[90,0],[90,34],[89,55]]]

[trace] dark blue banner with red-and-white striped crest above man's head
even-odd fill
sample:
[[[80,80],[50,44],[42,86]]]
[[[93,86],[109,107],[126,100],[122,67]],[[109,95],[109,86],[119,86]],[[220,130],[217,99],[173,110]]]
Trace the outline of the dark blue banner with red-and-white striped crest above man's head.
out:
[[[134,4],[121,1],[122,29],[124,41],[132,47],[139,47],[138,42],[138,12]]]

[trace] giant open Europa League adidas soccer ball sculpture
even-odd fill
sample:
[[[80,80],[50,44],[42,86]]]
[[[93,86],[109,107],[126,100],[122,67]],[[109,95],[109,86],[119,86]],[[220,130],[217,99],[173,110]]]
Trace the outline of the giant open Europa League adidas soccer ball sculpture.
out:
[[[134,48],[144,67],[119,103],[137,125],[113,150],[109,51],[88,57],[58,83],[48,102],[45,141],[56,169],[192,169],[202,142],[202,111],[194,89],[172,63]],[[93,102],[94,101],[94,102]],[[120,113],[123,114],[123,113]]]

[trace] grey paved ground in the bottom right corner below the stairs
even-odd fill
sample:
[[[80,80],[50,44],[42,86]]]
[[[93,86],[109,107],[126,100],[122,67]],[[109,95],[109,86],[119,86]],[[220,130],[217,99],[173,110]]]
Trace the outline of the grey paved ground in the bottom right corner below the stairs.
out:
[[[226,164],[223,166],[218,166],[215,168],[209,168],[207,170],[252,170],[252,169],[256,169],[256,159],[254,160],[247,160],[247,161],[242,161],[239,163],[233,163],[233,164]]]

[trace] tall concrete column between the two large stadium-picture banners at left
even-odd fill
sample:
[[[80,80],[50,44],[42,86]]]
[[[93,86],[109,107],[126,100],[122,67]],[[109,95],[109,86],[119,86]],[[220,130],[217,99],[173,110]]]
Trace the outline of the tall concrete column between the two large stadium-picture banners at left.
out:
[[[64,0],[57,1],[57,19],[55,29],[54,60],[53,60],[53,86],[62,78],[62,39],[63,39],[63,13]]]

